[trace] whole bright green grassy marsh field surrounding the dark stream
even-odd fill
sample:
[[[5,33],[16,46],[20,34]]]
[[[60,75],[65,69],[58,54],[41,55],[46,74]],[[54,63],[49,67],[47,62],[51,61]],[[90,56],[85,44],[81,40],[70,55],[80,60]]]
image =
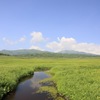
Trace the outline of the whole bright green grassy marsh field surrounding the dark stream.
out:
[[[35,70],[53,75],[58,92],[70,100],[100,100],[100,58],[19,58],[0,56],[0,99]]]

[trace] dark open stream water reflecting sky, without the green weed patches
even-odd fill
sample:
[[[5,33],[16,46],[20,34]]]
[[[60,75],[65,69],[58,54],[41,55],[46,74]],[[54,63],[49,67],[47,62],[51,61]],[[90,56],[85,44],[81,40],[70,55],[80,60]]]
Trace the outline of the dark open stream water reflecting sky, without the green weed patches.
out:
[[[44,72],[34,72],[32,78],[21,82],[15,93],[9,94],[4,100],[52,100],[47,93],[36,93],[41,87],[39,81],[49,77]]]

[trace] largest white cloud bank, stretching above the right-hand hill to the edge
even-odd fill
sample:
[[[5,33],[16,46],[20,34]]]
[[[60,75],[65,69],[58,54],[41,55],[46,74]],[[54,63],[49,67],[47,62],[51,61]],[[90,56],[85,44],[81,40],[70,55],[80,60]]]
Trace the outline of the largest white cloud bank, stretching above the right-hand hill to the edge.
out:
[[[87,53],[100,54],[100,45],[93,43],[78,43],[74,38],[57,38],[57,41],[53,41],[46,45],[47,48],[58,52],[61,50],[76,50]]]

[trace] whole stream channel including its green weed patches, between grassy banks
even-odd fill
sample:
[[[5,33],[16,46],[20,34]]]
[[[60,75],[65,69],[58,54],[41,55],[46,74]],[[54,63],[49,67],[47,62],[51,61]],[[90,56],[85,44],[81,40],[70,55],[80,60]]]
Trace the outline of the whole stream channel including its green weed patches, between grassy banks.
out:
[[[34,72],[31,78],[19,83],[16,91],[3,100],[65,100],[57,92],[51,76],[46,72]]]

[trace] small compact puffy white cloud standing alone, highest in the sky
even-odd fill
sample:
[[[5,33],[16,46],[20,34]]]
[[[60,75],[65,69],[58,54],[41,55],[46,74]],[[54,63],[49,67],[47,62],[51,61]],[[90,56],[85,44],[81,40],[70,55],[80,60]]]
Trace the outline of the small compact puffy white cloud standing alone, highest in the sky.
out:
[[[31,36],[32,36],[32,39],[31,39],[32,43],[38,43],[45,40],[41,32],[32,32]]]

